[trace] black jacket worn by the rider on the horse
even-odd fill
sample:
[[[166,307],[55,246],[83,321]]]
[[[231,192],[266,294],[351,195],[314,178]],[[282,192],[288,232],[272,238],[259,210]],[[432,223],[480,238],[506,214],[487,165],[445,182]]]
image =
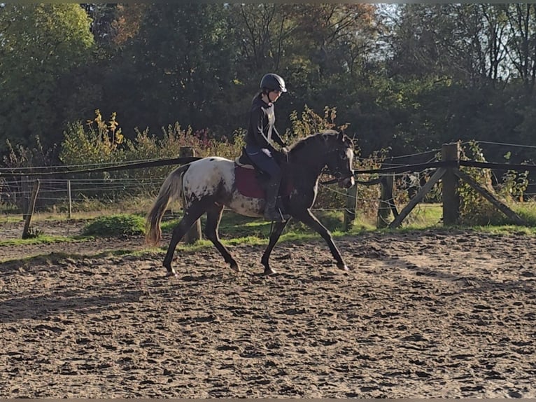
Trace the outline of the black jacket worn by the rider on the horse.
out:
[[[251,103],[249,112],[249,125],[246,134],[246,144],[268,148],[274,151],[273,142],[285,146],[283,139],[279,137],[276,130],[276,115],[274,114],[274,104],[267,104],[260,97],[255,97]]]

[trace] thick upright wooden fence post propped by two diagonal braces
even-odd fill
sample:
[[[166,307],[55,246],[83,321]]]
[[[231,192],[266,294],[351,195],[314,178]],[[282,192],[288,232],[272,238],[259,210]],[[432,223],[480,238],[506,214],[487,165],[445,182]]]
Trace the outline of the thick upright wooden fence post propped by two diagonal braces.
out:
[[[445,162],[453,162],[452,166],[446,167],[443,181],[443,224],[454,225],[460,216],[460,197],[456,191],[458,176],[454,171],[458,169],[460,162],[460,143],[443,144],[441,158]]]

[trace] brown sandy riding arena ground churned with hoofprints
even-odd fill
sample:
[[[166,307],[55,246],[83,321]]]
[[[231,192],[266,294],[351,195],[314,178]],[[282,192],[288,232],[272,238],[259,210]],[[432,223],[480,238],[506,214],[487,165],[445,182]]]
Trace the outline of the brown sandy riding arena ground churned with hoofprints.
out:
[[[278,244],[273,277],[244,246],[239,274],[209,248],[171,279],[163,254],[95,256],[141,237],[0,247],[0,397],[536,397],[535,238],[336,242],[348,273],[318,238]]]

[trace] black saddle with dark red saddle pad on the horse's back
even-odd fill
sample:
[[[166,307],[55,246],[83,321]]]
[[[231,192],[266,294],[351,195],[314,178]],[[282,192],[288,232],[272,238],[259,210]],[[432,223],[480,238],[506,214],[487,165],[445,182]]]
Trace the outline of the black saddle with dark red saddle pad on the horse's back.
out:
[[[253,164],[246,150],[242,148],[241,155],[234,160],[234,183],[238,192],[246,197],[265,198],[269,178],[267,173],[262,172]],[[289,195],[291,190],[292,185],[283,174],[283,180],[279,186],[279,196]]]

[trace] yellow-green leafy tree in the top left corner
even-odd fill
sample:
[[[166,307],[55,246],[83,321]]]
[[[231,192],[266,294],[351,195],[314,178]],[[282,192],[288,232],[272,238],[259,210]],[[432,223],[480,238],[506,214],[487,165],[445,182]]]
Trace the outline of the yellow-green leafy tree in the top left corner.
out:
[[[78,4],[6,4],[0,12],[0,151],[6,139],[45,146],[62,137],[59,80],[91,57],[90,20]]]

